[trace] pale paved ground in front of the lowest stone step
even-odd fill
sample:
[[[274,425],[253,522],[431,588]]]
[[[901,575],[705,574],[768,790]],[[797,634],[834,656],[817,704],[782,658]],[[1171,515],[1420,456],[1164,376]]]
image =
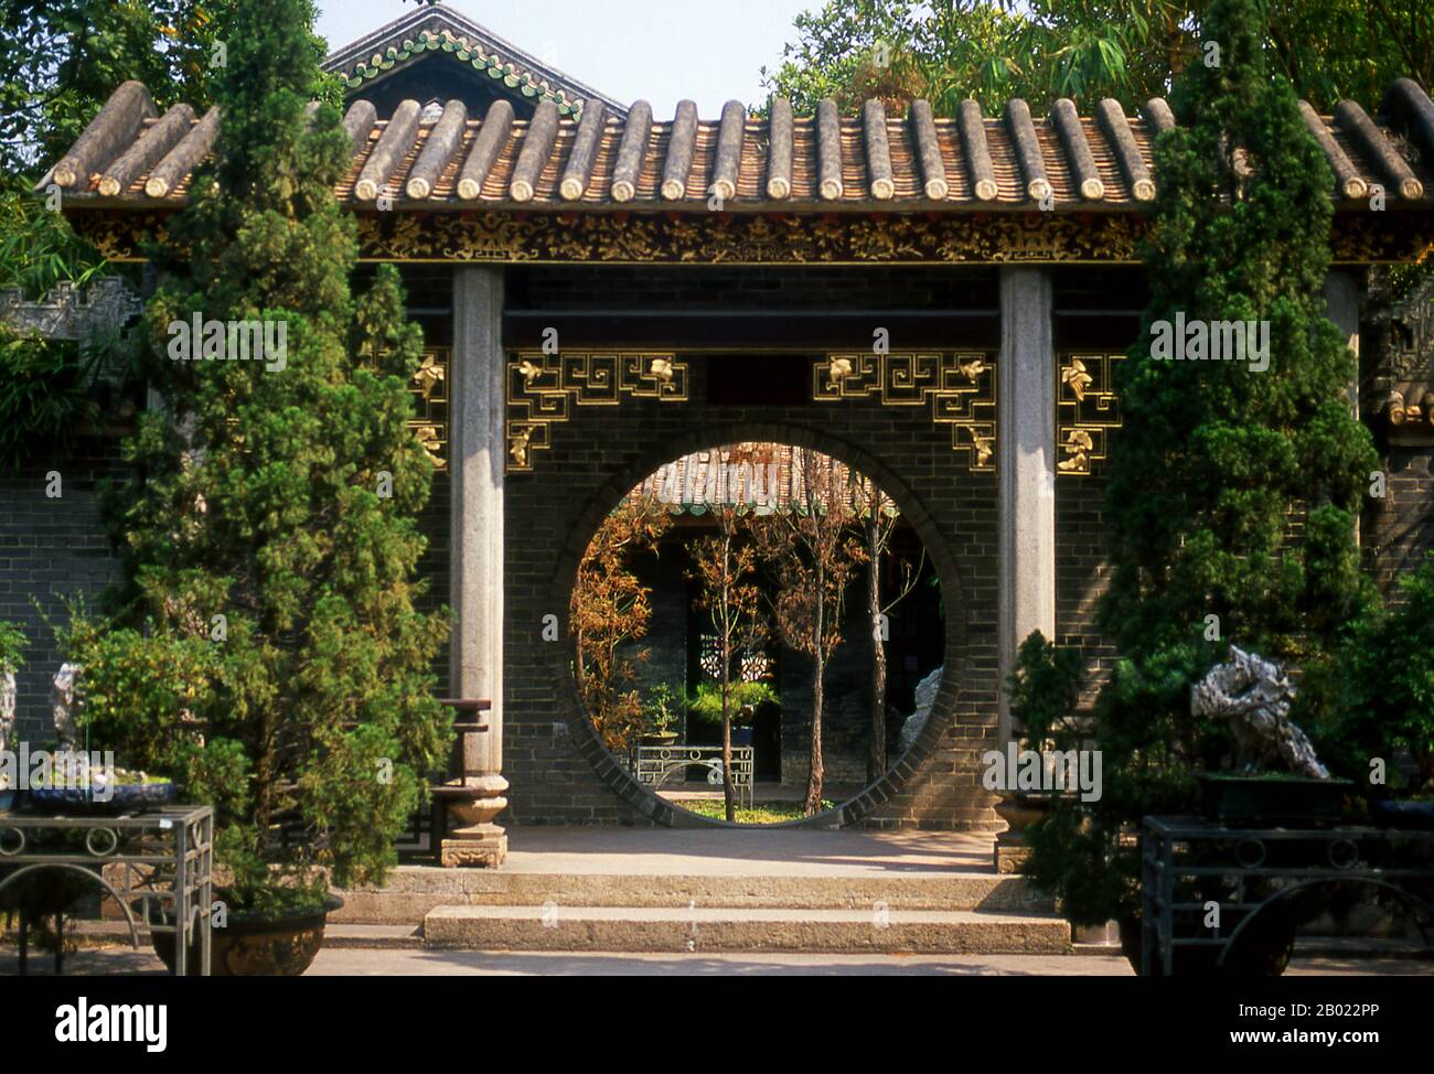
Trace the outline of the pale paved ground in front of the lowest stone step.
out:
[[[0,976],[16,974],[14,948],[0,948]],[[52,972],[47,956],[32,974]],[[66,959],[65,972],[163,974],[149,951],[86,949]],[[308,976],[1133,976],[1119,955],[804,955],[515,951],[376,951],[326,948]],[[1431,976],[1427,959],[1299,958],[1289,976]]]

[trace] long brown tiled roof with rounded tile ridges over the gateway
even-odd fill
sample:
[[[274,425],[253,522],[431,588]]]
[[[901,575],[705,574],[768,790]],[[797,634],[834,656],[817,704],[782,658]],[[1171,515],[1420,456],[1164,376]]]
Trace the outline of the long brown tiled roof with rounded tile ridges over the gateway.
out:
[[[783,100],[773,100],[770,118],[730,102],[718,120],[700,120],[681,102],[671,122],[654,122],[642,100],[627,116],[592,102],[581,122],[562,119],[549,100],[532,120],[513,119],[505,100],[482,118],[462,102],[449,102],[436,120],[422,112],[416,100],[387,120],[366,100],[348,108],[354,158],[336,188],[343,202],[706,211],[716,195],[734,212],[1130,211],[1154,196],[1150,145],[1173,123],[1159,98],[1137,116],[1113,100],[1078,116],[1063,99],[1040,119],[1020,99],[1001,116],[984,116],[968,100],[955,119],[934,118],[921,100],[905,116],[886,115],[879,100],[860,116],[839,116],[823,102],[810,118],[793,116]],[[1434,103],[1418,85],[1394,85],[1382,123],[1349,100],[1331,118],[1308,106],[1304,113],[1342,198],[1381,186],[1391,204],[1428,204]],[[181,202],[214,129],[212,116],[199,122],[184,105],[156,118],[143,86],[125,83],[37,189],[53,179],[76,206]]]

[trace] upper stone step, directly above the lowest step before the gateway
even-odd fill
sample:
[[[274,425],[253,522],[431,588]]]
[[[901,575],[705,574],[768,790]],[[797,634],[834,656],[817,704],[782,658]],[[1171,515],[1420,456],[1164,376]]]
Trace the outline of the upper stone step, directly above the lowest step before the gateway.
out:
[[[1050,912],[1021,876],[882,873],[873,876],[522,873],[403,866],[383,889],[350,889],[330,921],[417,925],[437,906],[630,906]]]

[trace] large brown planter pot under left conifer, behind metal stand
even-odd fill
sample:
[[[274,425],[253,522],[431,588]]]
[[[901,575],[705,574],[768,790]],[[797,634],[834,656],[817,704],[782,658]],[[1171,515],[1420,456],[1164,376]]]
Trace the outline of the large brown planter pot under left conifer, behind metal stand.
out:
[[[300,976],[324,945],[324,925],[330,912],[344,900],[330,895],[323,906],[264,916],[231,913],[222,929],[209,941],[209,972],[214,976]],[[174,972],[175,935],[153,933],[155,954]],[[189,944],[186,968],[198,972],[198,938]]]

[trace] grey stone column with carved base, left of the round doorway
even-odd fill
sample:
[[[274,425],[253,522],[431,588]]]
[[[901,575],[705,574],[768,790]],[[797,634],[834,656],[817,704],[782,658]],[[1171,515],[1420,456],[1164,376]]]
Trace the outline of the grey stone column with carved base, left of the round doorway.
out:
[[[503,270],[453,272],[453,361],[449,370],[452,498],[449,599],[455,622],[450,690],[486,698],[488,730],[465,733],[460,783],[447,793],[462,826],[446,833],[445,866],[500,865],[508,836],[493,822],[503,792]]]

